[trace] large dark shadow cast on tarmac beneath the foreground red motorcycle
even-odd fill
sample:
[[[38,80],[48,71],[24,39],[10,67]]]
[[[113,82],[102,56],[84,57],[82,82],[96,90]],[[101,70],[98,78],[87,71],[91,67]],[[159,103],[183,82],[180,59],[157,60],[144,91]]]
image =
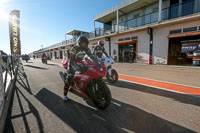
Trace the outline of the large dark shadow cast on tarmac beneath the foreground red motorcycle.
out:
[[[76,132],[193,132],[116,99],[106,110],[96,110],[72,99],[64,102],[46,88],[35,97]]]

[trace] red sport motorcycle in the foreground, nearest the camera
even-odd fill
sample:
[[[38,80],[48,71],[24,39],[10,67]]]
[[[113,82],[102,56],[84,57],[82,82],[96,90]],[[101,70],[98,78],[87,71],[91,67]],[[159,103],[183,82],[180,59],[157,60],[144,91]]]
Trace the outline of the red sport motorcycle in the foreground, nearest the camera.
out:
[[[65,69],[68,68],[67,60],[62,64]],[[107,73],[106,66],[95,56],[85,56],[83,61],[76,61],[76,64],[81,67],[76,69],[70,88],[91,98],[97,108],[107,108],[111,102],[111,92],[103,81]],[[65,83],[67,74],[63,72],[59,74]]]

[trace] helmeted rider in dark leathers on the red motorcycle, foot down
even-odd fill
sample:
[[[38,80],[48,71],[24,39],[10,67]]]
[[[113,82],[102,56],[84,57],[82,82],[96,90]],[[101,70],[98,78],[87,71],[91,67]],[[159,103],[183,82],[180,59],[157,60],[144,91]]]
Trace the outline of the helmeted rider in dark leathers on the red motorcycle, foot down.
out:
[[[92,55],[90,49],[88,48],[88,44],[89,44],[89,41],[88,41],[87,37],[80,36],[77,39],[77,44],[74,47],[72,47],[72,49],[71,49],[68,70],[67,70],[66,83],[64,86],[64,100],[68,100],[67,93],[68,93],[69,86],[73,82],[73,77],[74,77],[75,71],[80,68],[80,66],[78,66],[76,64],[76,61],[83,60],[83,58],[86,54],[89,56]]]

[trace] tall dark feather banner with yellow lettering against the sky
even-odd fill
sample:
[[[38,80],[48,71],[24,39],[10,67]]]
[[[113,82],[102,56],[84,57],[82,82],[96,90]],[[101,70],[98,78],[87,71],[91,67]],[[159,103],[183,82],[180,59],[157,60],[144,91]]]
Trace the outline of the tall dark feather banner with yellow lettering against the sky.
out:
[[[10,13],[9,31],[11,54],[21,55],[20,12],[18,10],[14,10]]]

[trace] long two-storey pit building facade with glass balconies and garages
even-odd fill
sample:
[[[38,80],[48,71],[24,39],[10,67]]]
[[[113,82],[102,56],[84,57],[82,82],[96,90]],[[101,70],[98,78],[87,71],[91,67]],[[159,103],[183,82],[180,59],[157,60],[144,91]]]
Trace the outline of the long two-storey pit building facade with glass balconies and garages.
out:
[[[95,22],[103,27],[96,28]],[[118,62],[192,64],[192,52],[200,49],[200,0],[125,0],[95,16],[94,31],[84,35],[90,46],[103,40]],[[61,43],[44,51],[67,58],[75,40]]]

